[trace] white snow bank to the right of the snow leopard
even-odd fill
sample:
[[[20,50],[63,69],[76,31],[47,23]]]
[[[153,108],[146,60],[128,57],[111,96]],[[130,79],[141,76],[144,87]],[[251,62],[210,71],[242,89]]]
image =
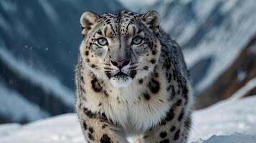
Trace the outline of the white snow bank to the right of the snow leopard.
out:
[[[256,137],[256,97],[224,100],[194,113],[190,140],[235,133]],[[256,138],[255,138],[256,141]]]

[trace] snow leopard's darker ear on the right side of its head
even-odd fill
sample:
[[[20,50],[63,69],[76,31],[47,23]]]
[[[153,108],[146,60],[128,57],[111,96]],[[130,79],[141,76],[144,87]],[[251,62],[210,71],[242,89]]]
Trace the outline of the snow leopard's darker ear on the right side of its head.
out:
[[[147,11],[141,15],[141,19],[145,22],[146,26],[154,32],[158,32],[160,25],[160,15],[156,11]]]

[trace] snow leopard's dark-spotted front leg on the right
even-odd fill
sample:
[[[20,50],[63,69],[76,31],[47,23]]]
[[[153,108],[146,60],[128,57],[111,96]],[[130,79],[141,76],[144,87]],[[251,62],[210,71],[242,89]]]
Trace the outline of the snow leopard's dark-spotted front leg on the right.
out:
[[[161,124],[152,127],[134,139],[134,143],[186,143],[191,124],[191,114],[184,107],[169,109]]]

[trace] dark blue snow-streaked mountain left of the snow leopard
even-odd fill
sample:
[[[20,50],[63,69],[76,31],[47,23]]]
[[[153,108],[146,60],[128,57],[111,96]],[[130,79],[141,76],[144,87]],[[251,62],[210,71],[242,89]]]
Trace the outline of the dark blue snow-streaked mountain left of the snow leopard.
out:
[[[108,0],[1,0],[0,123],[73,112],[80,15],[120,9]]]

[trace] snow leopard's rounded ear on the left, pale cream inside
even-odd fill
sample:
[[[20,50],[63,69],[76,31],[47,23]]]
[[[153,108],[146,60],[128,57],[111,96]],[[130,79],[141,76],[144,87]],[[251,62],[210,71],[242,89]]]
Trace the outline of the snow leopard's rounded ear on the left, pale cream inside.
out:
[[[93,24],[95,24],[100,16],[92,11],[86,11],[82,14],[80,18],[80,24],[82,26],[82,35],[85,36],[90,29],[92,29]]]

